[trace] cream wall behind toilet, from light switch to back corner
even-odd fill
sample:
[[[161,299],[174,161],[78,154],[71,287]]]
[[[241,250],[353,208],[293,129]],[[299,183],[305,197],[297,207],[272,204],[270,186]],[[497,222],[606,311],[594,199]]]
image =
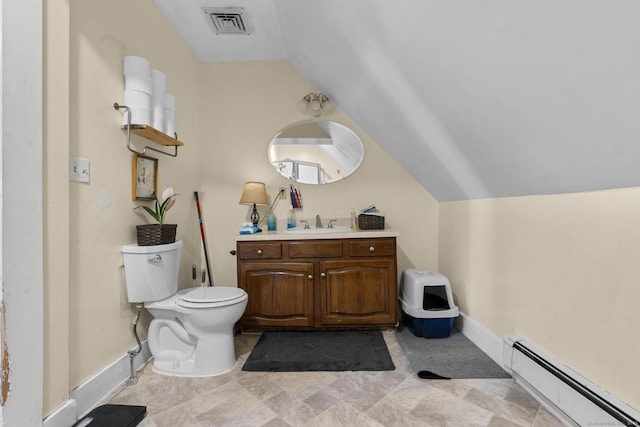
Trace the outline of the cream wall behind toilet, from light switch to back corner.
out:
[[[185,147],[159,159],[158,191],[180,194],[167,220],[184,241],[182,275],[200,262],[197,217],[190,195],[199,187],[197,166],[200,64],[150,1],[71,2],[69,155],[91,161],[91,182],[70,184],[69,386],[134,344],[133,310],[127,302],[121,247],[135,242],[135,225],[149,222],[132,201],[132,156],[120,129],[125,55],[147,58],[167,75],[176,96],[176,129]],[[135,140],[138,149],[147,141]],[[52,286],[57,285],[52,283]]]

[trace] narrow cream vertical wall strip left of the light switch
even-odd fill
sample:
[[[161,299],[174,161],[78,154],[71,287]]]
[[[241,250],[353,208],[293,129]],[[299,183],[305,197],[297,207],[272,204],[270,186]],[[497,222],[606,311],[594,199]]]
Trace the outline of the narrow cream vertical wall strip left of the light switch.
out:
[[[45,408],[69,392],[69,2],[44,7],[44,378]],[[55,284],[55,285],[54,285]]]

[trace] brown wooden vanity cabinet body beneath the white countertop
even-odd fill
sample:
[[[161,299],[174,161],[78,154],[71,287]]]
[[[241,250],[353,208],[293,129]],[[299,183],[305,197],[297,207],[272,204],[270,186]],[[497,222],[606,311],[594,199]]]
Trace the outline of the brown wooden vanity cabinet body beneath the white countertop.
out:
[[[239,241],[244,328],[395,326],[395,238]]]

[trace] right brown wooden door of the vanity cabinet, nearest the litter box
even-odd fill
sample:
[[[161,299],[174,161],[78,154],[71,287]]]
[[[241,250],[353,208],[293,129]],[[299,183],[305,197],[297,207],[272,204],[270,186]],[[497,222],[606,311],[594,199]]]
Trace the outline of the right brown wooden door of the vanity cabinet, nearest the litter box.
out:
[[[324,261],[318,282],[322,325],[395,325],[393,259]]]

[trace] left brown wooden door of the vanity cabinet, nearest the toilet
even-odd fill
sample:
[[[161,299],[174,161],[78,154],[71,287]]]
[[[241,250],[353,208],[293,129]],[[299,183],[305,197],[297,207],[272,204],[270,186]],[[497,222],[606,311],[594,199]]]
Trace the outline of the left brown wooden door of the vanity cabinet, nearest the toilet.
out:
[[[249,295],[243,327],[313,326],[313,264],[243,262],[238,286]]]

